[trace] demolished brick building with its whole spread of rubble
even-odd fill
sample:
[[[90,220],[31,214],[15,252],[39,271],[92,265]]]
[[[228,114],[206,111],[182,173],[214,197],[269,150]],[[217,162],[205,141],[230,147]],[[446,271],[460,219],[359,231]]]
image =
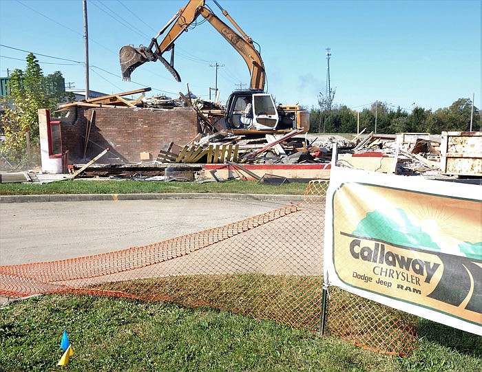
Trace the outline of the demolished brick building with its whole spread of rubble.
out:
[[[70,102],[63,118],[39,110],[42,169],[76,177],[327,179],[333,157],[352,168],[402,175],[482,176],[480,132],[369,133],[308,138],[305,129],[228,130],[215,102],[145,99],[145,91]],[[125,96],[142,94],[136,99]],[[442,145],[441,145],[442,143]],[[454,144],[457,144],[455,146]],[[457,153],[458,151],[458,153]],[[179,177],[182,175],[182,177]]]

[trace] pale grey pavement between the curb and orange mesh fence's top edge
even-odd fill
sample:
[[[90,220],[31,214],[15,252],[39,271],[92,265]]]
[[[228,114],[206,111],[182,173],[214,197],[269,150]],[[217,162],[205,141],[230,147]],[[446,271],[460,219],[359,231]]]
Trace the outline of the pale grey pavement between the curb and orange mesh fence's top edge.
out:
[[[234,200],[208,196],[0,201],[0,265],[70,259],[147,245],[239,221],[289,203],[281,197]]]

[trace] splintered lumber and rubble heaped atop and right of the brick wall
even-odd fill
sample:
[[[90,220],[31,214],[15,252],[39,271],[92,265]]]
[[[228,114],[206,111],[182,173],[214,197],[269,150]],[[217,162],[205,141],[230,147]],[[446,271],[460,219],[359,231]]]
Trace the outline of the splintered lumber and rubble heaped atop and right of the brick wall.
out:
[[[339,164],[368,171],[400,175],[482,175],[482,171],[477,172],[482,168],[480,132],[444,132],[444,137],[430,133],[364,135],[362,131],[351,140],[326,135],[318,140],[314,135],[303,133],[303,129],[281,134],[258,131],[248,135],[227,130],[222,124],[225,107],[219,102],[195,97],[189,88],[187,95],[180,93],[176,99],[164,95],[145,98],[146,91],[150,88],[70,102],[60,105],[58,111],[75,106],[149,110],[193,107],[201,133],[187,144],[171,142],[159,151],[151,164],[328,164],[336,148]],[[142,95],[136,100],[125,98],[139,93]]]

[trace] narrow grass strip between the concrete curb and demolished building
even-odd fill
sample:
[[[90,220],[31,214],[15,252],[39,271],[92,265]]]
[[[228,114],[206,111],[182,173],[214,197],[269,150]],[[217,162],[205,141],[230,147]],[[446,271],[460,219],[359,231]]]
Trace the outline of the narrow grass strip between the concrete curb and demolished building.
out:
[[[303,195],[307,184],[291,182],[283,185],[257,184],[255,181],[210,182],[149,182],[94,181],[76,179],[48,184],[0,184],[0,195],[52,194],[135,194],[135,193],[239,193]]]

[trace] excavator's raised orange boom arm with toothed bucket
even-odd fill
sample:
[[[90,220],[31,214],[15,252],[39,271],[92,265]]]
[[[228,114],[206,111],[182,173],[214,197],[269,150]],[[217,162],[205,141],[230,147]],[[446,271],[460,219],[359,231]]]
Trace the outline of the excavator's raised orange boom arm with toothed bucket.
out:
[[[216,4],[218,3],[216,2]],[[242,36],[230,28],[229,25],[221,21],[216,14],[211,12],[211,10],[206,8],[205,0],[190,0],[189,3],[187,3],[184,8],[180,9],[176,16],[167,23],[165,28],[160,30],[158,35],[151,40],[149,47],[141,45],[138,48],[134,48],[126,45],[121,48],[119,57],[123,78],[129,80],[130,74],[134,69],[143,65],[143,63],[147,61],[160,60],[165,67],[169,69],[169,72],[173,74],[174,78],[180,81],[179,74],[173,66],[174,60],[171,58],[171,63],[169,63],[163,58],[162,54],[173,49],[174,41],[178,39],[182,32],[187,31],[189,25],[202,15],[202,17],[204,17],[244,59],[251,75],[251,89],[264,89],[264,65],[260,54],[253,46],[253,41],[242,32],[240,27],[233,21],[233,19],[231,19],[231,17],[229,17],[229,15],[227,15],[225,10],[223,10],[223,14],[231,21],[231,23],[233,23],[234,27],[240,31]],[[160,37],[160,35],[163,34],[173,22],[174,25],[171,26],[171,29],[167,32],[164,39],[158,43],[158,37]]]

